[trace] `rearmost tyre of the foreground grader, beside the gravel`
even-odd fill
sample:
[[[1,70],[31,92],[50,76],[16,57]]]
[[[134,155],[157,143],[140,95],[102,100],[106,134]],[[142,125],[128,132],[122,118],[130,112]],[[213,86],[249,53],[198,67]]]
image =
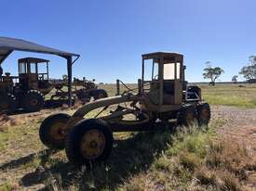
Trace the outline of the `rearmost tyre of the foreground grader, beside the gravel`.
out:
[[[208,103],[199,104],[196,107],[199,126],[207,126],[210,120],[210,107]]]

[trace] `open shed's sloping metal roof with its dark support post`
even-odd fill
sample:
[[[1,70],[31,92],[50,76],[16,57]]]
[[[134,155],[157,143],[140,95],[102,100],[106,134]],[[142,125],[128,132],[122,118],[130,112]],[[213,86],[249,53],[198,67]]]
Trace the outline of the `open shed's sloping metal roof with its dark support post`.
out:
[[[72,104],[72,65],[80,57],[80,55],[61,51],[45,45],[38,45],[22,39],[0,36],[0,66],[4,62],[4,60],[15,50],[64,57],[67,60],[68,97],[69,97],[69,106],[71,106]]]

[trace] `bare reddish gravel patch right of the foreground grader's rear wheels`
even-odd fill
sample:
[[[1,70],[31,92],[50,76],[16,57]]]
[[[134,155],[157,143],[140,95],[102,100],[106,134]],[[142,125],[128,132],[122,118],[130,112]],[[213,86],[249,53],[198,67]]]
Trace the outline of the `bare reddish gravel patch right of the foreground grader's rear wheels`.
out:
[[[256,108],[212,107],[213,119],[226,121],[218,129],[218,134],[228,140],[234,140],[256,154]],[[256,173],[251,173],[248,190],[256,190]]]

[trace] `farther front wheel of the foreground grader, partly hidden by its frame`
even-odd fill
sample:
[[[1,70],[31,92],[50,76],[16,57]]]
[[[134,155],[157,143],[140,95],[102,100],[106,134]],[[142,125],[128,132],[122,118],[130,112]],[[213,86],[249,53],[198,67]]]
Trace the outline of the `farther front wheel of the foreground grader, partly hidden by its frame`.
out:
[[[63,149],[67,134],[65,125],[69,119],[70,115],[65,113],[48,116],[39,129],[41,142],[49,148]]]

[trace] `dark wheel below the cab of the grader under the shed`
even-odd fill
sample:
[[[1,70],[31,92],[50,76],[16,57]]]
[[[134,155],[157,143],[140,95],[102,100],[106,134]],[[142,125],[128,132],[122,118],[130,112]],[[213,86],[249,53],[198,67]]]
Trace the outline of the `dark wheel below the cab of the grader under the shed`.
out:
[[[44,105],[45,96],[37,90],[29,90],[22,100],[22,107],[29,112],[39,111]]]

